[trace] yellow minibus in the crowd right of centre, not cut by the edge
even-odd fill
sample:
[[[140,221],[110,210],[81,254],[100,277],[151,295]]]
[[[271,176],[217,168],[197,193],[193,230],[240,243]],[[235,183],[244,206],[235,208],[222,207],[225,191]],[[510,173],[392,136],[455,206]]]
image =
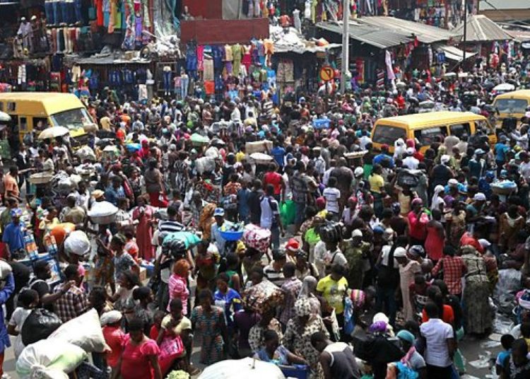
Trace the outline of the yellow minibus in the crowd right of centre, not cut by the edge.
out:
[[[376,150],[387,144],[394,152],[397,139],[415,139],[416,148],[425,153],[435,136],[471,136],[478,127],[484,127],[488,133],[490,144],[495,144],[495,127],[488,119],[472,112],[428,112],[415,115],[385,117],[378,119],[372,129],[372,143]]]

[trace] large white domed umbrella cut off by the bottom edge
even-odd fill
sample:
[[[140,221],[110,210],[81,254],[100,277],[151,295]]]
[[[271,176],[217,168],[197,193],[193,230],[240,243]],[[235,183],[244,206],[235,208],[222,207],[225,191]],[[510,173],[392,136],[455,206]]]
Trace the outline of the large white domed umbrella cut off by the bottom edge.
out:
[[[208,366],[199,379],[285,379],[285,375],[274,363],[253,358],[228,359]]]

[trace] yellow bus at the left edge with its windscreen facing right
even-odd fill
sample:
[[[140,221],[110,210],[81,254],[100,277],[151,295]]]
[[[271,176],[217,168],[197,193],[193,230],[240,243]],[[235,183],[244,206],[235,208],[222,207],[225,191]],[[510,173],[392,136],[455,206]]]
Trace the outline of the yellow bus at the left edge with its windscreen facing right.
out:
[[[73,93],[0,93],[0,111],[11,116],[20,141],[35,131],[35,138],[47,127],[66,127],[73,138],[85,136],[83,127],[93,125],[85,105]]]

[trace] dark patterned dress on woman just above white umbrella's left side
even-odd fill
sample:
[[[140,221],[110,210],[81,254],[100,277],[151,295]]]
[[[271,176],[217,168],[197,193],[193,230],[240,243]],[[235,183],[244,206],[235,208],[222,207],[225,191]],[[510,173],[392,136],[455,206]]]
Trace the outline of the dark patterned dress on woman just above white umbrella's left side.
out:
[[[202,306],[192,310],[190,317],[194,330],[201,333],[201,363],[211,365],[223,359],[223,336],[221,327],[225,326],[224,310],[216,306],[206,313]]]

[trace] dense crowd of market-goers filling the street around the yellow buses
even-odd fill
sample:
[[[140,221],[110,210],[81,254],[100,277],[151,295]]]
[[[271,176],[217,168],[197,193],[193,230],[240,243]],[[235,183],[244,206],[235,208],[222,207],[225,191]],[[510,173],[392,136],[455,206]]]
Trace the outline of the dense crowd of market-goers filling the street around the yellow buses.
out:
[[[98,378],[196,375],[194,345],[204,365],[254,356],[306,365],[312,378],[455,378],[466,371],[459,341],[492,332],[493,289],[511,269],[520,326],[502,337],[497,373],[529,378],[530,112],[497,129],[494,146],[480,129],[434,136],[426,151],[412,139],[375,151],[370,139],[376,119],[415,112],[418,100],[493,120],[489,84],[524,86],[529,62],[518,64],[465,80],[411,78],[394,91],[286,95],[281,105],[267,94],[90,100],[95,160],[66,136],[29,138],[4,174],[2,251],[13,274],[0,291],[2,350],[35,308],[62,322],[95,308],[110,348],[93,354]],[[314,127],[322,118],[329,128]],[[255,161],[249,146],[271,159]],[[28,181],[31,170],[80,167],[90,175],[64,196]],[[413,186],[399,180],[407,170]],[[500,196],[497,180],[517,188]],[[98,202],[119,209],[110,223],[89,216]],[[249,223],[270,231],[269,248],[225,239]],[[52,285],[49,261],[23,262],[28,239],[49,252],[66,225],[91,248],[57,240]],[[185,232],[195,238],[173,238]],[[249,293],[264,283],[282,301],[258,309]],[[13,348],[20,355],[20,337]]]

